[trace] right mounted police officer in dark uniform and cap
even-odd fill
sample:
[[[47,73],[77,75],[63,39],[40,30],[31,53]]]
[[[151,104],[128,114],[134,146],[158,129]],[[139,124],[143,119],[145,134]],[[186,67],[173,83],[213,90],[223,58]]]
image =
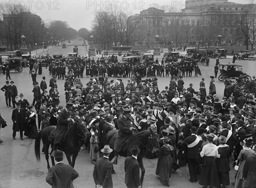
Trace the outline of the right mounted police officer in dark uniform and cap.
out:
[[[131,108],[126,106],[123,108],[123,117],[121,117],[117,122],[119,132],[114,144],[115,157],[113,159],[113,164],[115,165],[117,164],[119,152],[122,151],[125,144],[127,144],[126,142],[132,135],[132,132],[137,132],[137,129],[134,127],[131,119]]]

